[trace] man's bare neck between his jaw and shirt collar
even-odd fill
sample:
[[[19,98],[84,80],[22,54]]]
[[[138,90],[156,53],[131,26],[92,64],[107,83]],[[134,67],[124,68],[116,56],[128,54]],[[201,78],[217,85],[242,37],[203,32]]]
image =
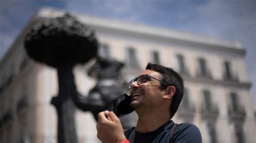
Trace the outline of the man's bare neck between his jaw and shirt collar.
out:
[[[161,125],[170,120],[170,112],[151,111],[138,113],[139,119],[136,130],[140,133],[147,133],[157,130]]]

